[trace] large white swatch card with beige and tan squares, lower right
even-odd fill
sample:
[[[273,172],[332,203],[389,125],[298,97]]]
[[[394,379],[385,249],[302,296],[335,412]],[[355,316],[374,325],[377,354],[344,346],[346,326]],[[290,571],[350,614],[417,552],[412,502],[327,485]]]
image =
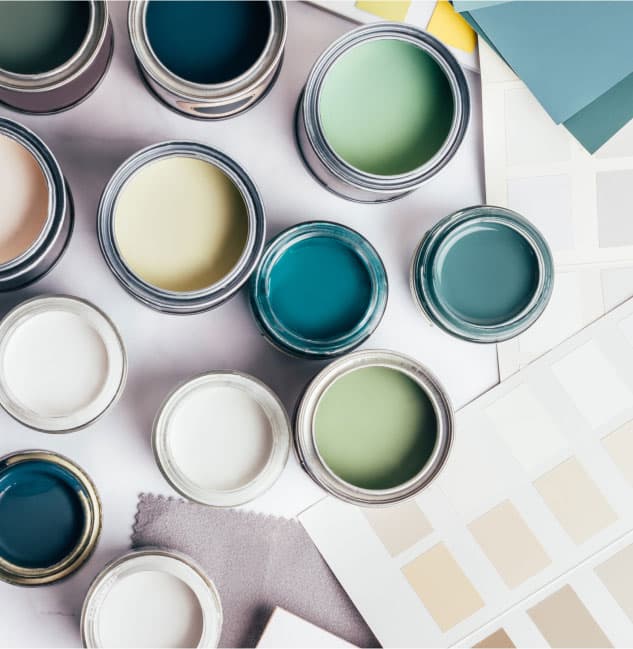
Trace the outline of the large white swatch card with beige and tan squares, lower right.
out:
[[[300,520],[383,646],[631,646],[631,503],[633,300],[458,411],[414,500]]]

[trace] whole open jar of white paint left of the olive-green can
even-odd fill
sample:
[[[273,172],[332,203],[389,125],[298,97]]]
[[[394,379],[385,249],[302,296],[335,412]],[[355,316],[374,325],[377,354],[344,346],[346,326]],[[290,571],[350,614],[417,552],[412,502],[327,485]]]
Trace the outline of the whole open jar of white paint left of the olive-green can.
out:
[[[152,445],[167,481],[204,505],[235,507],[281,475],[291,427],[277,395],[239,372],[202,374],[166,399]]]

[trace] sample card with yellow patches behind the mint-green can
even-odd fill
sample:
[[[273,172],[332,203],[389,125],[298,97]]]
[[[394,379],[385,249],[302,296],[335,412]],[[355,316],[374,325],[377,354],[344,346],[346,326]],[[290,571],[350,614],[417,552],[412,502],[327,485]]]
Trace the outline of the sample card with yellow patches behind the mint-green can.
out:
[[[419,27],[446,45],[466,68],[479,72],[477,35],[448,0],[308,0],[357,23],[385,20]]]

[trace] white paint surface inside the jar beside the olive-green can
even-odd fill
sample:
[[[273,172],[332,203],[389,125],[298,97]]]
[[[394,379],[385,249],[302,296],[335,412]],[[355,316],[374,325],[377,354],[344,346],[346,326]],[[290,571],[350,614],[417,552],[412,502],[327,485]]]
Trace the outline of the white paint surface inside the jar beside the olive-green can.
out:
[[[201,385],[189,392],[167,435],[178,470],[205,491],[229,491],[254,480],[273,441],[262,407],[236,386]]]

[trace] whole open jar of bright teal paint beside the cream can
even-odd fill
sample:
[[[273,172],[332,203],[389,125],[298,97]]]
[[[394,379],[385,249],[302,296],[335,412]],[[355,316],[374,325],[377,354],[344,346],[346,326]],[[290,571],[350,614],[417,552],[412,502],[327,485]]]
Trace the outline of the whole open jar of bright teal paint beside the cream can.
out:
[[[387,273],[375,248],[337,223],[295,225],[268,243],[250,282],[264,336],[303,358],[332,358],[364,342],[387,306]]]

